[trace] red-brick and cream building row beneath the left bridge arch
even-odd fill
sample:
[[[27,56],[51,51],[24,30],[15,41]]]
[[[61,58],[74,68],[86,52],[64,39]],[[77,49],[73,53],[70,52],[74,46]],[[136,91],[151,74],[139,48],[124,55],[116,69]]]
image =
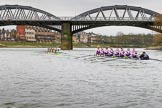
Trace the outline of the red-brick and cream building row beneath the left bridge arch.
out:
[[[16,31],[17,37],[22,41],[53,42],[55,39],[52,30],[42,27],[17,25]]]

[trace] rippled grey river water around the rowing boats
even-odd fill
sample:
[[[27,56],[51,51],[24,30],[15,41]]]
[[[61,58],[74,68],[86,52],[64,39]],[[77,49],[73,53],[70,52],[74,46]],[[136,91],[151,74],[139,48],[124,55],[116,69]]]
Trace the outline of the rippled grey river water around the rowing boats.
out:
[[[0,49],[0,108],[162,108],[161,51],[142,61],[46,50]]]

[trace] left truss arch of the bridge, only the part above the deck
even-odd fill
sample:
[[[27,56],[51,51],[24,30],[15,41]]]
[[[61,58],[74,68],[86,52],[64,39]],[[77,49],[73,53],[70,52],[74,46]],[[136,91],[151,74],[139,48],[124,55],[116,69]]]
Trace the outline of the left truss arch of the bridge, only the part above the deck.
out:
[[[0,20],[60,20],[60,18],[31,6],[1,5]]]

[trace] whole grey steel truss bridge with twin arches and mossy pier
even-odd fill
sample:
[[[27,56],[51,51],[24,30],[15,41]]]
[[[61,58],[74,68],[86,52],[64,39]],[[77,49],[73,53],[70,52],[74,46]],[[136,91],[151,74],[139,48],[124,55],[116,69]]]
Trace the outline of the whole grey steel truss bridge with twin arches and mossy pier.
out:
[[[62,49],[72,49],[72,34],[102,26],[135,26],[162,33],[161,15],[142,7],[114,5],[89,10],[75,17],[57,17],[30,6],[0,6],[0,26],[32,25],[58,31],[62,34]]]

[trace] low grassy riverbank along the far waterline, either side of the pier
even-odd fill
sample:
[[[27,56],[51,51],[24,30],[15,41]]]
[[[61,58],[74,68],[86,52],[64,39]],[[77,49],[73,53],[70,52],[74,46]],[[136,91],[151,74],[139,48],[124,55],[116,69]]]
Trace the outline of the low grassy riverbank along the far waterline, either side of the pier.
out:
[[[0,41],[0,48],[49,48],[60,47],[61,43],[38,43],[38,42],[15,42],[15,41]],[[96,47],[123,47],[123,48],[142,48],[144,46],[138,45],[119,45],[119,44],[97,44],[97,43],[74,43],[74,48],[96,48]]]

